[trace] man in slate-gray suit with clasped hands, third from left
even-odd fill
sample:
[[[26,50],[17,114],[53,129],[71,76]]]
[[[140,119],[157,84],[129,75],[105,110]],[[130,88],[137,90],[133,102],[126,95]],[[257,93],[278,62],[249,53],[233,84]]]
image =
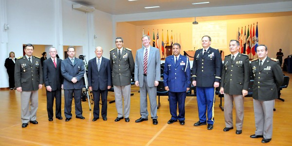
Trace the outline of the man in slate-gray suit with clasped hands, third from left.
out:
[[[66,122],[70,121],[72,118],[72,100],[74,93],[74,103],[75,103],[75,115],[76,118],[85,119],[82,116],[82,106],[81,106],[81,94],[83,88],[83,76],[84,76],[84,63],[81,59],[75,57],[75,48],[73,46],[68,47],[67,54],[68,58],[61,62],[61,73],[64,77],[64,96],[65,96],[65,106],[64,112],[66,117]]]

